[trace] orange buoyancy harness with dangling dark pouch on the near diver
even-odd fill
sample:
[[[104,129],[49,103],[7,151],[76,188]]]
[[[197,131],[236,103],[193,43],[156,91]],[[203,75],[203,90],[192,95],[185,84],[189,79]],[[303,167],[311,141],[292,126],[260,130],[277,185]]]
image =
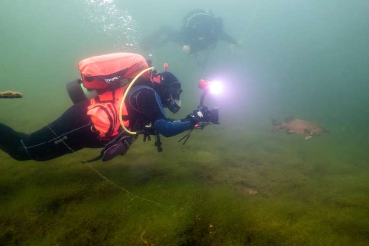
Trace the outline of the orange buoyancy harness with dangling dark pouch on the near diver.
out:
[[[93,128],[101,140],[107,142],[101,154],[88,162],[98,159],[107,161],[119,154],[124,155],[136,140],[137,134],[143,134],[144,141],[151,140],[150,135],[154,135],[155,146],[158,152],[161,152],[159,133],[153,126],[147,125],[137,134],[130,135],[123,131],[119,119],[121,114],[124,128],[130,127],[127,108],[122,100],[123,94],[130,88],[129,83],[132,79],[135,80],[138,76],[144,79],[151,77],[149,71],[143,72],[149,69],[148,62],[138,54],[114,53],[84,59],[79,62],[78,68],[83,87],[97,91],[97,96],[90,99],[91,105],[88,107],[87,115],[90,116]],[[141,72],[142,75],[139,75]],[[147,88],[154,90],[149,86]],[[137,90],[129,91],[129,94],[135,91]]]

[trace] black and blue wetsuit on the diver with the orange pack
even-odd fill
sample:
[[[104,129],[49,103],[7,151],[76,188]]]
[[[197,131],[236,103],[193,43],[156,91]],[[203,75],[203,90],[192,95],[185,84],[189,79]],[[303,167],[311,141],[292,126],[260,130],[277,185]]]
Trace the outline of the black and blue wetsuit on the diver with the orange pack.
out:
[[[187,119],[171,120],[165,115],[159,95],[149,86],[135,86],[125,100],[133,131],[153,123],[166,137],[190,129]],[[0,149],[17,160],[50,160],[83,148],[103,148],[102,141],[87,115],[90,101],[74,104],[62,116],[31,133],[20,133],[0,123]]]

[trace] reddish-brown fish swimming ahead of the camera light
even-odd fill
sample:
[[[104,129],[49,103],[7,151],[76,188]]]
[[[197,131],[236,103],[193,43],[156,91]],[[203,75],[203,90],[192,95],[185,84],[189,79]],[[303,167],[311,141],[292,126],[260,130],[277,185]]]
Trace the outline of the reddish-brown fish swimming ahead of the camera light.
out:
[[[305,135],[305,140],[328,132],[325,128],[317,123],[301,119],[286,118],[285,123],[279,123],[277,120],[272,119],[272,124],[272,132],[276,132],[280,129],[286,129],[286,133],[288,134],[297,133]]]

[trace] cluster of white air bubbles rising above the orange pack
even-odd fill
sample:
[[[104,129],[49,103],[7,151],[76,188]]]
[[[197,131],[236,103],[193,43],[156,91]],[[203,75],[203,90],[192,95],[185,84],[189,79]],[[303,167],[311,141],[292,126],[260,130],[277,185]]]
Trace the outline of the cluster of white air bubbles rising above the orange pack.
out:
[[[80,13],[83,26],[92,26],[97,33],[114,40],[114,46],[121,51],[136,49],[141,32],[127,10],[118,9],[113,0],[84,0],[83,3]]]

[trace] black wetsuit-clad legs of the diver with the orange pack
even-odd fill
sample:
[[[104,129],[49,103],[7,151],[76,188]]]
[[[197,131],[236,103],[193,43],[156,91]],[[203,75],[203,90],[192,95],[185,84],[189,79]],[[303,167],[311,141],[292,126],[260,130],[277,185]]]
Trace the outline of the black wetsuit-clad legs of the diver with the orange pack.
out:
[[[62,116],[30,135],[1,124],[0,149],[17,160],[50,160],[90,147],[102,147],[87,115],[88,101],[74,104]],[[3,139],[4,136],[4,140]]]

